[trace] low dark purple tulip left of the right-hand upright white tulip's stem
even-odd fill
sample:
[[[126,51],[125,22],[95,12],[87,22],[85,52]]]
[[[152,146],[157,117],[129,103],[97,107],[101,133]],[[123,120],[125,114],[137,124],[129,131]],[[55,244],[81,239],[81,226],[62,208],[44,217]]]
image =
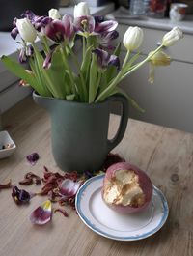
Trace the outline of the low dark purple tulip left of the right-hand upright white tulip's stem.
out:
[[[102,69],[105,69],[108,66],[116,66],[118,70],[120,69],[120,60],[118,56],[111,55],[107,51],[99,48],[96,48],[92,52],[96,54],[98,65]]]

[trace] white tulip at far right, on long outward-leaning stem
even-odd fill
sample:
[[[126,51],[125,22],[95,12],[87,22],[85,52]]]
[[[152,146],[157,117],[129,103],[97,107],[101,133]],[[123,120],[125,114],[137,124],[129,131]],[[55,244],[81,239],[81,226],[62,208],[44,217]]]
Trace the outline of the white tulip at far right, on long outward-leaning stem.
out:
[[[164,46],[171,46],[175,44],[179,39],[182,39],[183,32],[179,29],[179,27],[174,27],[171,31],[165,34],[162,40],[162,44]]]

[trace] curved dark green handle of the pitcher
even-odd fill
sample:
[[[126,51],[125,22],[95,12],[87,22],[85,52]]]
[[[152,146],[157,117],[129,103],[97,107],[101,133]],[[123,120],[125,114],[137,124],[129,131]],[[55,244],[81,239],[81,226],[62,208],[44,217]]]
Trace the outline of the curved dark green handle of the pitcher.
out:
[[[113,139],[107,140],[107,150],[108,150],[108,152],[110,152],[121,142],[121,140],[124,137],[124,132],[125,132],[125,129],[127,126],[127,121],[128,121],[128,100],[122,95],[112,96],[108,100],[121,102],[122,106],[123,106],[121,120],[120,120],[120,126],[117,130],[117,133]]]

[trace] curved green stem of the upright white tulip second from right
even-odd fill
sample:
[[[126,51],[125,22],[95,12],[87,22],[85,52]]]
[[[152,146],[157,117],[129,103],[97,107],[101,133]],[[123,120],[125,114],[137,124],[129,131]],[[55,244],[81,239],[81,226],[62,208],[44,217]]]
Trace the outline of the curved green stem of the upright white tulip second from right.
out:
[[[123,63],[123,66],[122,66],[121,71],[119,71],[118,75],[115,77],[115,79],[113,80],[113,82],[110,83],[110,85],[109,85],[103,92],[101,92],[101,94],[96,98],[96,102],[105,99],[105,96],[106,96],[109,92],[111,92],[111,91],[115,88],[115,86],[118,84],[120,78],[121,78],[122,75],[123,75],[124,67],[125,67],[125,65],[126,65],[126,63],[127,63],[127,61],[128,61],[129,54],[130,54],[130,51],[127,51],[127,52],[126,52],[126,56],[125,56],[125,58],[124,58],[124,63]]]

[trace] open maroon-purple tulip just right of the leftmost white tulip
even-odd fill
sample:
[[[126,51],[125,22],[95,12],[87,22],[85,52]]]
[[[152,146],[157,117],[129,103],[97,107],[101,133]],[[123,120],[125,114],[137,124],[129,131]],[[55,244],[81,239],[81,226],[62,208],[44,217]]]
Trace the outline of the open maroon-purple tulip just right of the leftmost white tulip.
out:
[[[43,33],[56,43],[70,42],[74,36],[72,16],[67,14],[62,20],[51,20],[43,28]]]

